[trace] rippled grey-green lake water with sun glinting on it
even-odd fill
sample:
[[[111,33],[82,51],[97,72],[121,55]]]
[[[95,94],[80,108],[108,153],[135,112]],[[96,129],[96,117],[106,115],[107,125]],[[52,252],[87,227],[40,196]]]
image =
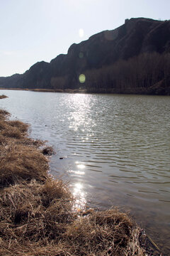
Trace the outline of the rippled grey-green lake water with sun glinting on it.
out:
[[[170,97],[1,90],[0,108],[56,154],[77,208],[130,210],[170,255]]]

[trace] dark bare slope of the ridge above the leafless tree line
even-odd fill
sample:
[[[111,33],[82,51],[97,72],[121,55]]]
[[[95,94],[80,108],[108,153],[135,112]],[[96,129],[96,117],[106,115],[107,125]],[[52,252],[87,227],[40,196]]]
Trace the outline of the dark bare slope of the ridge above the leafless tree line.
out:
[[[58,55],[50,63],[36,63],[23,75],[0,78],[0,87],[77,88],[81,86],[79,75],[86,70],[99,70],[153,52],[170,53],[170,21],[131,18],[113,31],[74,43],[67,55]]]

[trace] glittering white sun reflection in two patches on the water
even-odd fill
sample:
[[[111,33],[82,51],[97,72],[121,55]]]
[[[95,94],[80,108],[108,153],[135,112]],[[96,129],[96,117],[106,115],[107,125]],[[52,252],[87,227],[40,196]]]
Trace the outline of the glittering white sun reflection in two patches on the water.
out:
[[[79,146],[86,146],[94,137],[91,127],[94,127],[95,119],[91,116],[91,108],[94,102],[91,102],[91,97],[86,95],[70,95],[67,101],[69,108],[69,116],[67,117],[69,123],[69,132],[74,134],[74,143]],[[77,161],[76,161],[77,160]],[[74,167],[69,170],[72,176],[72,193],[75,198],[73,210],[80,211],[86,208],[86,185],[84,178],[86,175],[86,165],[82,161],[75,159]]]

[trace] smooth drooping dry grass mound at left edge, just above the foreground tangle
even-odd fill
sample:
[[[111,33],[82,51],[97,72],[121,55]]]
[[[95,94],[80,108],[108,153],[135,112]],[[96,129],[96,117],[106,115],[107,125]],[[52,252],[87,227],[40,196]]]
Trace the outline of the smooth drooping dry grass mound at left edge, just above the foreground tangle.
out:
[[[47,158],[36,149],[8,144],[0,156],[0,186],[30,181],[32,178],[44,181],[48,168]]]

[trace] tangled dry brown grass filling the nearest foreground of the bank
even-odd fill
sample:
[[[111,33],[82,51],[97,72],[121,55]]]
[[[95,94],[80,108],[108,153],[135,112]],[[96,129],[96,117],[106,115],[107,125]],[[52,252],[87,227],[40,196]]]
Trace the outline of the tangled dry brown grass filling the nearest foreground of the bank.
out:
[[[73,203],[67,186],[50,178],[2,189],[0,255],[142,255],[128,215],[112,209],[84,217]]]

